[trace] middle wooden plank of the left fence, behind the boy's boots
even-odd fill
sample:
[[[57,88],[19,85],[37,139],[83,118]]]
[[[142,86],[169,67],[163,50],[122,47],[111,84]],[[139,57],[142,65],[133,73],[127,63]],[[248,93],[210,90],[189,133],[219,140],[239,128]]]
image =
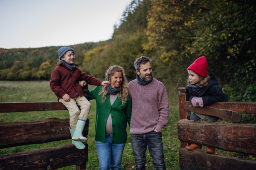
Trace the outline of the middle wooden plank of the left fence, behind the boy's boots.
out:
[[[89,120],[83,135],[88,134]],[[32,122],[0,123],[0,148],[71,139],[69,119],[49,118]]]

